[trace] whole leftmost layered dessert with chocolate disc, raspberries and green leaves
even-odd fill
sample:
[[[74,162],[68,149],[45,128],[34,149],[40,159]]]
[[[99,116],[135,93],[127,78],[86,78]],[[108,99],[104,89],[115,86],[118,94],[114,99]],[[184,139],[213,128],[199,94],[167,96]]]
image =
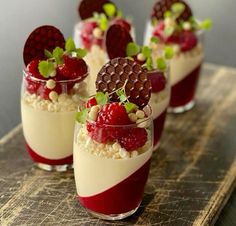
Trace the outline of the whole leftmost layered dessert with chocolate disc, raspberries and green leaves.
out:
[[[25,43],[23,131],[32,160],[45,170],[66,170],[73,162],[75,114],[87,96],[85,54],[53,26],[35,29]]]

